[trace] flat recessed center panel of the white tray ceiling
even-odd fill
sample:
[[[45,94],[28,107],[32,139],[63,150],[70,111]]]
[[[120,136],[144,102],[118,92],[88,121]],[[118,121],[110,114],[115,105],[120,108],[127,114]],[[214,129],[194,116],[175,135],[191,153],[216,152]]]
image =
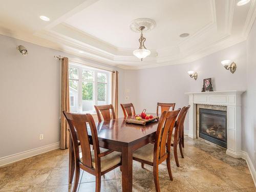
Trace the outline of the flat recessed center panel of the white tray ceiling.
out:
[[[118,48],[139,47],[132,20],[152,18],[157,26],[144,34],[147,49],[179,44],[182,33],[195,34],[212,22],[211,0],[103,0],[68,18],[65,23]],[[93,19],[92,19],[93,18]]]

